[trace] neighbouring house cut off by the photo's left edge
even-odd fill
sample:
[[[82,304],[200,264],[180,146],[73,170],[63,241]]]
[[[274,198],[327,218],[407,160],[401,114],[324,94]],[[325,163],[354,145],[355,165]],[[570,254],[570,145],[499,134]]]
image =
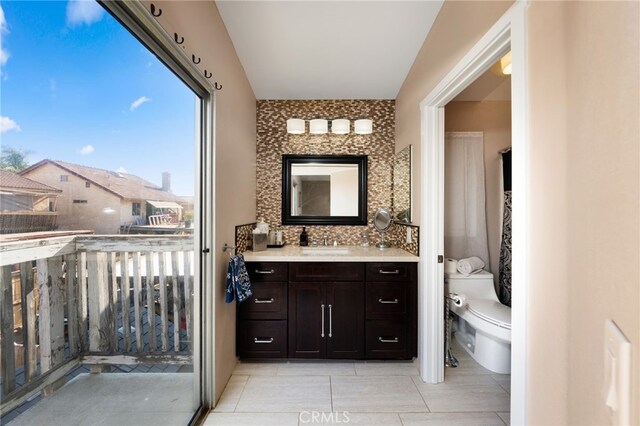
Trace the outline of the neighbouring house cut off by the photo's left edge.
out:
[[[53,231],[56,199],[62,191],[0,170],[0,233]]]

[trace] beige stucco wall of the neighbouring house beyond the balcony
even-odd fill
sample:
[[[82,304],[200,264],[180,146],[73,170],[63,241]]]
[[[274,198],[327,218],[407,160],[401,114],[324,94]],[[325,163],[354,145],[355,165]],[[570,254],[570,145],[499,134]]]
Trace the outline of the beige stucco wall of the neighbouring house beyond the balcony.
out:
[[[67,182],[60,182],[60,175],[67,175]],[[92,230],[96,234],[117,234],[120,230],[120,197],[90,184],[67,170],[46,163],[25,174],[29,179],[62,190],[56,202],[59,230]],[[73,200],[87,200],[86,204],[74,204]],[[113,213],[105,213],[110,207]]]

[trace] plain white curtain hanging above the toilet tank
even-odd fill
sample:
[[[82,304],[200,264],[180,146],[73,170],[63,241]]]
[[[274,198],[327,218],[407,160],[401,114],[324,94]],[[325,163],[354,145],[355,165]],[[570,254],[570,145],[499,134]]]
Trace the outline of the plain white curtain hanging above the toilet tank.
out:
[[[478,256],[489,270],[483,133],[445,133],[444,158],[445,256]]]

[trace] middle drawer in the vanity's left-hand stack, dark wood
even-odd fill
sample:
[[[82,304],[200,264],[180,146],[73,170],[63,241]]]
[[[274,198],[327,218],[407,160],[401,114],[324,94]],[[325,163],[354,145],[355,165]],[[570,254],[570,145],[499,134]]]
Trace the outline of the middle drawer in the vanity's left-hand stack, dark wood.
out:
[[[287,319],[287,283],[257,282],[253,295],[238,305],[240,319]]]

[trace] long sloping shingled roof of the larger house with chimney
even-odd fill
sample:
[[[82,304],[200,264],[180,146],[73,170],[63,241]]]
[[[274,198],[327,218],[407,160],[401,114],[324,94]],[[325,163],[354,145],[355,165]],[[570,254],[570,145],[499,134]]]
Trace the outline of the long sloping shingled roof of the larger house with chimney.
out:
[[[85,179],[120,198],[128,200],[174,201],[176,203],[184,202],[180,196],[172,194],[171,192],[163,191],[158,185],[154,185],[139,176],[132,175],[130,173],[119,173],[95,167],[67,163],[65,161],[48,159],[42,160],[28,169],[23,170],[21,174],[28,174],[45,164],[52,164],[66,170],[67,172]]]

